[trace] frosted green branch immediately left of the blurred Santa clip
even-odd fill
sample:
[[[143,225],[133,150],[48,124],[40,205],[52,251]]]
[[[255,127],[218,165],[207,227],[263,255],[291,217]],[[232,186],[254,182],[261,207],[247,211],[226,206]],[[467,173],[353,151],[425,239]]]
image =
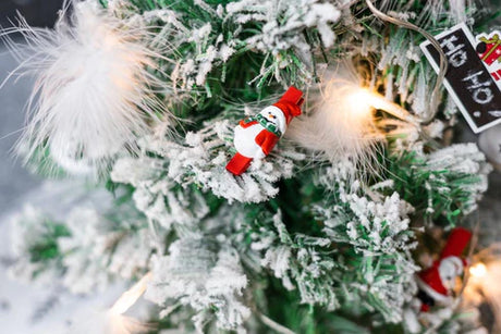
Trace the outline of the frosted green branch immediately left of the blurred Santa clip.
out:
[[[377,188],[366,189],[370,197],[361,195],[358,182],[347,182],[350,163],[341,163],[326,170],[320,183],[339,191],[339,202],[331,207],[315,207],[325,220],[323,233],[341,245],[347,243],[365,259],[394,265],[394,272],[379,276],[377,269],[367,270],[361,282],[346,282],[349,290],[359,295],[377,296],[379,311],[387,321],[402,321],[402,307],[415,290],[414,273],[418,267],[410,251],[417,246],[410,231],[410,214],[414,208],[400,199],[399,194],[383,196]],[[380,187],[391,186],[384,183]],[[334,187],[338,187],[334,189]],[[347,222],[347,223],[346,223]]]

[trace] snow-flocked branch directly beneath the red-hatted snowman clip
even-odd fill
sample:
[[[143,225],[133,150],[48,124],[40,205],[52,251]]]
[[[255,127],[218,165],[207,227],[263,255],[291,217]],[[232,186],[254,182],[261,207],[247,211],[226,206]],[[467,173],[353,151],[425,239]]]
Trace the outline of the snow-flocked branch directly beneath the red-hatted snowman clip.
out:
[[[140,170],[138,166],[144,164],[144,168],[149,170],[151,166],[158,171],[163,169],[166,175],[160,184],[155,176],[142,181],[140,185],[148,186],[142,197],[149,196],[148,191],[156,196],[155,188],[149,185],[152,184],[166,191],[168,187],[162,184],[168,185],[172,181],[182,187],[195,184],[204,191],[212,191],[213,195],[229,201],[259,202],[276,196],[278,188],[274,183],[280,178],[291,177],[294,161],[303,160],[304,154],[286,143],[281,143],[269,157],[262,161],[255,161],[242,176],[233,176],[225,170],[233,150],[233,144],[230,141],[233,136],[232,128],[230,121],[216,121],[197,133],[187,133],[184,144],[178,144],[163,136],[146,137],[139,143],[144,149],[163,157],[164,160],[139,158],[135,162],[119,161],[112,177],[122,183],[135,182],[137,176],[131,171]],[[129,163],[136,168],[121,168]]]

